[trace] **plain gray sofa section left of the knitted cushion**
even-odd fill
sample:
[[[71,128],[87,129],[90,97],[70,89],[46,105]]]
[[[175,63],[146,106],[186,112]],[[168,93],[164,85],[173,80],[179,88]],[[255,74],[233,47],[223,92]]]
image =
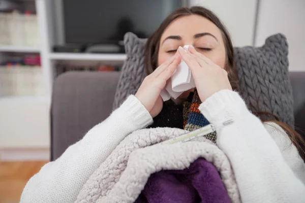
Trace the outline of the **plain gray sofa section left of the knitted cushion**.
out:
[[[51,104],[51,160],[110,115],[119,76],[119,72],[68,72],[55,80]]]

